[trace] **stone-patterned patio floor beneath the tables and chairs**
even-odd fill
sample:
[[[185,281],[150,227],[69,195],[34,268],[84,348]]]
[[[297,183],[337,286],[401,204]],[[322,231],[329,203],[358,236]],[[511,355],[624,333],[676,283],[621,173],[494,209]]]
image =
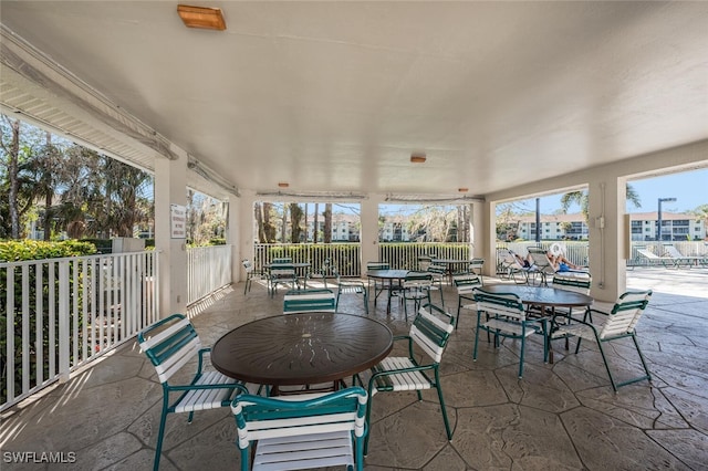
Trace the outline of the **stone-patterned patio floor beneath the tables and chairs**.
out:
[[[654,376],[613,393],[595,346],[577,355],[555,346],[544,364],[541,343],[528,345],[523,379],[517,377],[518,343],[499,350],[480,344],[472,362],[473,313],[464,312],[441,364],[454,427],[445,437],[437,397],[414,393],[374,398],[367,470],[708,469],[708,270],[637,269],[635,289],[655,294],[638,325],[639,344]],[[488,280],[488,282],[490,282]],[[435,300],[435,297],[434,297]],[[446,306],[457,306],[451,287]],[[405,333],[403,310],[389,316],[379,301],[371,315]],[[274,300],[242,284],[197,306],[194,323],[207,345],[257,317],[279,314]],[[363,314],[360,297],[343,297],[342,312]],[[589,345],[590,344],[590,345]],[[612,348],[617,377],[638,374],[636,354]],[[0,469],[152,468],[162,389],[134,343],[106,355],[71,381],[50,388],[2,414]],[[233,419],[228,409],[170,415],[160,468],[238,469]],[[8,452],[73,452],[75,462],[11,463]],[[65,457],[69,457],[65,454]]]

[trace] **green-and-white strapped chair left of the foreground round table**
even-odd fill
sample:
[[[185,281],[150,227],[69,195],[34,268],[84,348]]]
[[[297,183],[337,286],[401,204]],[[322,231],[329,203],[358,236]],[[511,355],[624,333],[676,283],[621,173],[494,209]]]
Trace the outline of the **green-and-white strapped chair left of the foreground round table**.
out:
[[[235,394],[248,393],[248,389],[219,371],[204,370],[204,356],[211,349],[201,346],[197,332],[183,314],[173,314],[146,327],[137,334],[137,341],[155,366],[163,385],[163,408],[153,467],[157,471],[168,414],[188,412],[187,421],[191,422],[196,410],[229,407]],[[191,380],[187,384],[169,384],[170,377],[195,356],[198,356],[198,363]],[[179,396],[170,402],[170,394]]]

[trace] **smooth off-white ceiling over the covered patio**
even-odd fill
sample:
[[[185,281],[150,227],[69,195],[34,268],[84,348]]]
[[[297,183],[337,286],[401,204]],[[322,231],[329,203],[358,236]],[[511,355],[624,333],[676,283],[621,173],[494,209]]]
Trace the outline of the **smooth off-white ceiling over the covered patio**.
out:
[[[258,191],[485,195],[708,138],[708,2],[187,3],[227,30],[174,1],[0,21]]]

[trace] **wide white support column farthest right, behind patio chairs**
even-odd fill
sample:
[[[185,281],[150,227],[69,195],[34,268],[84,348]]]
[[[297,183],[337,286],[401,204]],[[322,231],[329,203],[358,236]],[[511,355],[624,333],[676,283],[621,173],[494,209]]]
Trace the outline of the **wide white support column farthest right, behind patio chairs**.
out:
[[[587,185],[591,295],[613,302],[626,290],[626,266],[623,258],[626,179],[593,175]]]

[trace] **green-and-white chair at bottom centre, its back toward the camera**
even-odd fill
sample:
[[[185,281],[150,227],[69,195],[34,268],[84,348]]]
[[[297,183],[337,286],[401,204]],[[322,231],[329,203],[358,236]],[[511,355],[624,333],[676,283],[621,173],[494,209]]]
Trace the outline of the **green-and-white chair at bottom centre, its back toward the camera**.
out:
[[[367,398],[361,387],[270,398],[239,395],[231,410],[238,429],[241,470],[340,465],[363,470]]]

